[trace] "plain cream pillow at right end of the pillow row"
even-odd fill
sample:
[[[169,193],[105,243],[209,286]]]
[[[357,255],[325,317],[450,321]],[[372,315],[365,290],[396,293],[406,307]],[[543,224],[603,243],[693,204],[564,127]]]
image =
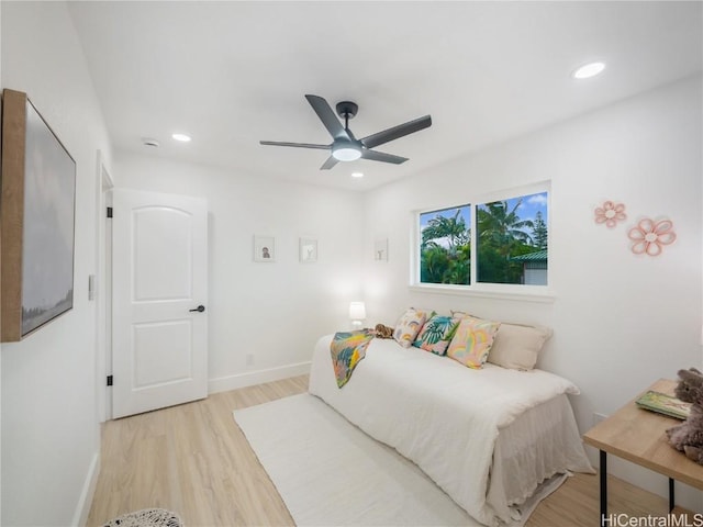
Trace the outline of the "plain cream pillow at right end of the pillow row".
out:
[[[532,370],[551,333],[544,326],[503,323],[495,334],[488,361],[513,370]]]

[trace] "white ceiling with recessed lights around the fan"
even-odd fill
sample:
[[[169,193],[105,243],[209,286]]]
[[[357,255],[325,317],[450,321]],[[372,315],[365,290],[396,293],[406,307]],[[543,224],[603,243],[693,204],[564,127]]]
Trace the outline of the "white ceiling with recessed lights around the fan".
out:
[[[703,69],[703,3],[70,2],[118,150],[368,190]],[[571,71],[607,64],[582,81]],[[320,170],[304,99],[359,104],[357,137],[431,114],[368,160]],[[178,144],[174,132],[193,141]],[[155,149],[143,137],[160,142]],[[349,177],[362,171],[365,178]]]

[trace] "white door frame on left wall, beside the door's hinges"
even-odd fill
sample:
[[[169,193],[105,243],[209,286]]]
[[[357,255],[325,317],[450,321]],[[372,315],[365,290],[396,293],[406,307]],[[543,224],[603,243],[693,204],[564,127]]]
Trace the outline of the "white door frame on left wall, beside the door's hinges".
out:
[[[112,391],[107,378],[112,372],[112,225],[107,209],[112,204],[111,191],[114,181],[101,150],[98,150],[96,173],[96,262],[97,279],[93,281],[96,306],[96,393],[98,394],[98,423],[112,418]]]

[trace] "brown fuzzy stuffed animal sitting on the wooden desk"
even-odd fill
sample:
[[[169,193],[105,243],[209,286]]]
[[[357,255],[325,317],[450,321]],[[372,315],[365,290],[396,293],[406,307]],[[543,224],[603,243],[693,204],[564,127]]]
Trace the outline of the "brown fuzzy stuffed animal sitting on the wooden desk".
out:
[[[689,417],[667,430],[669,444],[703,464],[703,373],[695,368],[679,370],[679,384],[674,391],[678,399],[691,404]]]

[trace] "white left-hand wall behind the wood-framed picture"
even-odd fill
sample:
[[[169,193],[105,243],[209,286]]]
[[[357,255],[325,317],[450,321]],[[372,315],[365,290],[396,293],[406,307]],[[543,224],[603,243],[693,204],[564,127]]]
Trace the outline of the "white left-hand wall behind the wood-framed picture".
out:
[[[2,87],[24,91],[77,164],[74,309],[3,344],[2,525],[77,525],[99,467],[96,410],[97,150],[110,145],[63,2],[1,2]]]

